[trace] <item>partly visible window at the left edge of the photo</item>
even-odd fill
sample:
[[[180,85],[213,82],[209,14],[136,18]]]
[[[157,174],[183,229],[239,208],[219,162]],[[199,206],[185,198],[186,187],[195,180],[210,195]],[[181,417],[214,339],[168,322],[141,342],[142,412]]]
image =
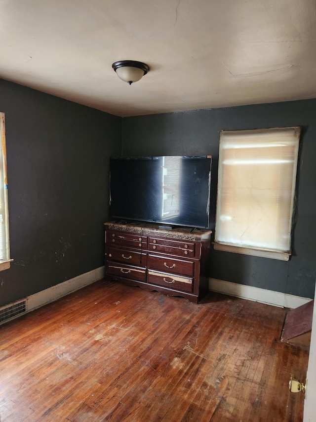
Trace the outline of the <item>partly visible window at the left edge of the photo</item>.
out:
[[[0,270],[10,268],[9,249],[9,219],[7,200],[6,179],[6,148],[4,113],[0,113],[1,119],[1,146],[0,146]]]

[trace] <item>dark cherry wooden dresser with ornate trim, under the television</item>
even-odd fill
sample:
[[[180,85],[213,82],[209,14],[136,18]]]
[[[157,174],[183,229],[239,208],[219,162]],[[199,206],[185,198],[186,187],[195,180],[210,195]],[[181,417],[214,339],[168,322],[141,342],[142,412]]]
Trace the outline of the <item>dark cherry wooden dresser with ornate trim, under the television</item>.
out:
[[[105,277],[197,303],[208,291],[211,231],[105,223]]]

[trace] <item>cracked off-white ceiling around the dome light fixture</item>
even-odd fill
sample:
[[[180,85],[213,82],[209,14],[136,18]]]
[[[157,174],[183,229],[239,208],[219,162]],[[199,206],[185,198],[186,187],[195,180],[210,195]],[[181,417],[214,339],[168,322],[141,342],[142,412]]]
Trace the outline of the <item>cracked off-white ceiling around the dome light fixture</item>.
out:
[[[315,0],[0,0],[0,43],[0,78],[118,116],[316,97]]]

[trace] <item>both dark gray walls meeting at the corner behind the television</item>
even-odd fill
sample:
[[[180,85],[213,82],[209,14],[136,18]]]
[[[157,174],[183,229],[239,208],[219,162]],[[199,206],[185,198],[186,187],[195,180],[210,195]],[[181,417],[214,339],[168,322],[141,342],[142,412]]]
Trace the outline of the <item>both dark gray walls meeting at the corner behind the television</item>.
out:
[[[103,265],[110,156],[211,154],[213,227],[219,131],[296,125],[303,136],[290,261],[212,249],[209,276],[314,296],[316,100],[121,119],[0,80],[0,111],[14,259],[0,272],[0,306]]]

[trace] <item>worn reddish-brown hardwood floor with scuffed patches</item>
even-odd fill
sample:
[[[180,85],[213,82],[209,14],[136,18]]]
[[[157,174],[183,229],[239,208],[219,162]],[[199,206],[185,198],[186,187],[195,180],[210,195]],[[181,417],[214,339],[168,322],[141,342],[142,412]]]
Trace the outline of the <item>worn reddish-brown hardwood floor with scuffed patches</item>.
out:
[[[0,327],[0,421],[302,421],[285,310],[97,281]]]

